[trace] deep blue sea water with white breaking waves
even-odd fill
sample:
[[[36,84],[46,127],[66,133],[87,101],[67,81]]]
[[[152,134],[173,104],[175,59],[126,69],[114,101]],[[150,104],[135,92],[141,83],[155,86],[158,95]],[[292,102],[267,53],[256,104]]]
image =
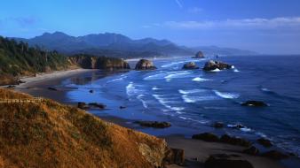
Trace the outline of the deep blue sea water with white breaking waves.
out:
[[[267,137],[276,146],[300,154],[300,57],[220,57],[231,70],[205,73],[182,70],[189,61],[202,67],[207,59],[172,58],[154,60],[155,71],[130,71],[99,78],[89,73],[66,80],[74,102],[107,104],[99,116],[131,120],[163,120],[172,126],[164,130],[145,129],[149,134],[186,134],[214,131],[238,134],[255,140]],[[134,65],[131,65],[134,66]],[[93,89],[93,94],[89,90]],[[268,107],[243,107],[247,100],[260,100]],[[120,110],[119,106],[126,106]],[[224,122],[225,129],[211,127]],[[242,124],[242,129],[230,128]]]

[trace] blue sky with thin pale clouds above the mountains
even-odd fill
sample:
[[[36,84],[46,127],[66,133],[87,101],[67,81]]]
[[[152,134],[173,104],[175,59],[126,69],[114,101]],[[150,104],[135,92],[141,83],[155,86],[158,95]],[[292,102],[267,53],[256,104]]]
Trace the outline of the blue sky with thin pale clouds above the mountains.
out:
[[[9,0],[0,35],[117,33],[178,45],[300,54],[299,0]]]

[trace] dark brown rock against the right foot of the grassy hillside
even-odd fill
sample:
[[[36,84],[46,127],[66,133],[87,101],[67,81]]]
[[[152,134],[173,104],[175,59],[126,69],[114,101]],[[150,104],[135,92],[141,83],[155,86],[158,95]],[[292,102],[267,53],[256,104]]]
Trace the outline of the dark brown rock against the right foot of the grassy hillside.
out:
[[[185,163],[185,150],[184,149],[169,149],[163,159],[166,164],[179,164]]]

